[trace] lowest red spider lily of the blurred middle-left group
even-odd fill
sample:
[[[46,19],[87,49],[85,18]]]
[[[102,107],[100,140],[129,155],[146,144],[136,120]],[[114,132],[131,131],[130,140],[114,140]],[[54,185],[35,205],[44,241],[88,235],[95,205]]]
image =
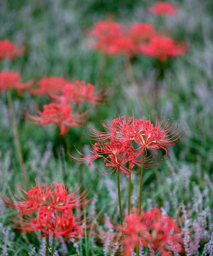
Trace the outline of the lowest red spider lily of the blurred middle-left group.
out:
[[[72,107],[65,102],[50,103],[43,106],[43,111],[36,111],[39,116],[32,116],[26,112],[26,116],[32,120],[35,125],[47,126],[50,123],[60,127],[60,135],[69,131],[70,127],[81,127],[85,113],[73,114]]]

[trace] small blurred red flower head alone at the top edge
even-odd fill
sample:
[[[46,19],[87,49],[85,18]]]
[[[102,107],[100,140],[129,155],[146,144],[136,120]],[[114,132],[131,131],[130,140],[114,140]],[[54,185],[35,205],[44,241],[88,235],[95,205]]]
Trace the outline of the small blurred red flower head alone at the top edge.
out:
[[[171,3],[159,1],[149,8],[149,11],[154,15],[176,15],[178,9]]]

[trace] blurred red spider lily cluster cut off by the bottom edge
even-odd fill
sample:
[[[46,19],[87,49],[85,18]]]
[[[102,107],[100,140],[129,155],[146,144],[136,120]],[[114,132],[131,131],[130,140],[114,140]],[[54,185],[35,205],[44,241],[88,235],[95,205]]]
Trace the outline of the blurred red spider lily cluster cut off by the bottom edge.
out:
[[[130,256],[137,243],[140,247],[150,249],[150,255],[159,252],[161,256],[170,256],[171,252],[183,252],[181,230],[170,216],[162,215],[157,208],[131,214],[125,217],[123,226],[107,223],[107,226],[118,231],[112,233],[113,240],[124,244],[124,256]]]

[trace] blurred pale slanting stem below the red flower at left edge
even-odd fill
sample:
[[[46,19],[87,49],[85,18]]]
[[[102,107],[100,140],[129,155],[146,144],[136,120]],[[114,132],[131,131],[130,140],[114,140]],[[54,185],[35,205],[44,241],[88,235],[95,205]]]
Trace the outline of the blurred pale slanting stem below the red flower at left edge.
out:
[[[28,185],[27,176],[26,176],[26,172],[24,169],[23,155],[22,155],[22,151],[21,151],[20,139],[19,139],[17,123],[16,123],[16,119],[15,119],[14,105],[13,105],[13,100],[12,100],[12,95],[11,95],[10,90],[7,91],[7,100],[8,100],[10,119],[11,119],[11,123],[12,123],[13,135],[14,135],[14,143],[15,143],[15,147],[17,150],[23,184],[25,186],[25,189],[27,189],[27,185]]]

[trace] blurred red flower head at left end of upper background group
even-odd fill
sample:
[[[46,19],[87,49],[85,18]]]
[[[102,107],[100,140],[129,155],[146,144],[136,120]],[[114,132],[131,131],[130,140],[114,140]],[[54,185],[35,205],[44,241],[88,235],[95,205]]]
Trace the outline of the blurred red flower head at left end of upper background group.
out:
[[[100,50],[106,54],[116,54],[114,41],[120,37],[121,25],[112,20],[101,20],[95,23],[94,28],[89,32],[89,36],[94,38],[92,48]]]

